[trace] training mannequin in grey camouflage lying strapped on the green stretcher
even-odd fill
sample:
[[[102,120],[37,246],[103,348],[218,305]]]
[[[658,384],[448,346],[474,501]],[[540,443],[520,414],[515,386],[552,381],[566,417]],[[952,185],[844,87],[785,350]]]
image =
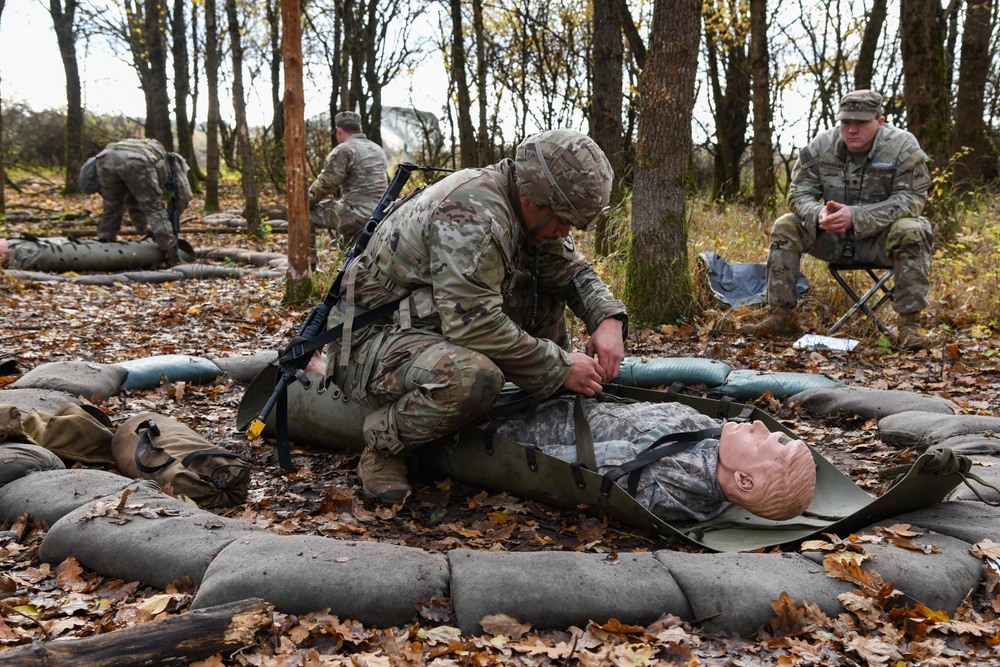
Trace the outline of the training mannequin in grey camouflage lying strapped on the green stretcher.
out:
[[[496,420],[491,428],[572,462],[577,459],[573,402],[545,401],[530,417]],[[707,521],[733,503],[765,519],[784,521],[802,514],[812,502],[816,466],[809,447],[785,433],[772,433],[763,422],[726,422],[720,432],[718,421],[680,403],[587,399],[586,406],[601,474],[636,458],[664,436],[669,442],[671,435],[718,434],[698,437],[641,469],[632,495],[664,521]],[[625,477],[616,483],[627,488]]]

